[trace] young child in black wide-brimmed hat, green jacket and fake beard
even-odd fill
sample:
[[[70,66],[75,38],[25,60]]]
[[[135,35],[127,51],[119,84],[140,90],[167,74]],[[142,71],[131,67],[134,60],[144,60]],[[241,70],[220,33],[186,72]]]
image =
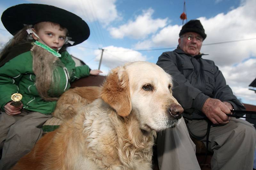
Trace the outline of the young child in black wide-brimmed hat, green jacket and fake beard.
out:
[[[50,5],[19,4],[1,19],[14,35],[0,53],[0,169],[9,169],[42,136],[41,125],[70,82],[102,72],[75,67],[66,51],[90,35],[77,15]],[[21,98],[20,104],[14,106],[11,96]]]

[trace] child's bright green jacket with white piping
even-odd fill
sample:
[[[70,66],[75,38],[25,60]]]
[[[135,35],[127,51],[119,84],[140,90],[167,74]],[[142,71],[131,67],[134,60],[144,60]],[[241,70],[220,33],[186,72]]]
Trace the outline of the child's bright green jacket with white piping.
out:
[[[90,74],[90,68],[86,65],[75,66],[74,60],[67,51],[61,53],[60,60],[65,67],[58,67],[60,81],[55,82],[54,90],[51,90],[55,97],[59,97],[70,88],[70,82]],[[21,93],[23,109],[51,114],[56,106],[56,101],[43,100],[36,89],[36,75],[33,73],[33,58],[30,51],[22,52],[0,67],[0,106],[11,101],[13,93]],[[56,88],[57,87],[57,88]]]

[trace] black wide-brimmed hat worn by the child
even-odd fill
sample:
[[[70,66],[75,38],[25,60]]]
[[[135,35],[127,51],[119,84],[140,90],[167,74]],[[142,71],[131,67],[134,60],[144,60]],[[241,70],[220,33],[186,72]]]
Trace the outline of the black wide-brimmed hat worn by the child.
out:
[[[26,25],[35,25],[39,22],[54,22],[68,29],[68,36],[73,45],[82,43],[90,35],[86,22],[72,12],[44,4],[19,4],[5,10],[1,20],[4,27],[15,35]]]

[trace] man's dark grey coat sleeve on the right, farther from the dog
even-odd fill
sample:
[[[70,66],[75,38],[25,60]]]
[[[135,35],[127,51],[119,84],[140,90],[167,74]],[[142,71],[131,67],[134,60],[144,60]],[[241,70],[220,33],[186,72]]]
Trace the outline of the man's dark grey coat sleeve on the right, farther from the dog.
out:
[[[235,110],[245,110],[244,105],[236,98],[231,88],[226,84],[226,80],[217,66],[215,78],[215,87],[213,90],[213,98],[217,98],[221,101],[227,101],[232,104]]]

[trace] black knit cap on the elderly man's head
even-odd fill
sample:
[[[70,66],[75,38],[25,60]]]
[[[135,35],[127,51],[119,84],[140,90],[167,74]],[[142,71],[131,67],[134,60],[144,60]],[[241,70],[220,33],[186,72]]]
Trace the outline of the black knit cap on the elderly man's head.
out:
[[[179,36],[187,32],[195,32],[201,35],[203,39],[206,38],[206,34],[204,33],[204,27],[199,20],[188,21],[185,25],[182,26]]]

